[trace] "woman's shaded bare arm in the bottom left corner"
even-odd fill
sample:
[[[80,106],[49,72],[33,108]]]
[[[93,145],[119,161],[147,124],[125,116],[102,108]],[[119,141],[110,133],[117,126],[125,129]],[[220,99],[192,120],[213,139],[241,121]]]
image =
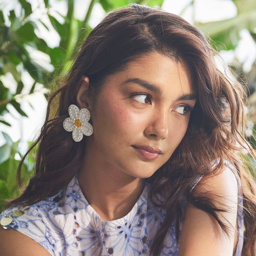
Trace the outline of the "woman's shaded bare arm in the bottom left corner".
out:
[[[51,256],[36,241],[15,230],[4,230],[0,225],[0,255],[4,256]]]

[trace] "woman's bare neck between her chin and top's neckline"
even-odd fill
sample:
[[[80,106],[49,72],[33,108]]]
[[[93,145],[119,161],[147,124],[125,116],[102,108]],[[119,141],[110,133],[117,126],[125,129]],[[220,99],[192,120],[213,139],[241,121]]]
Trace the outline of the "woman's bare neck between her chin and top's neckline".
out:
[[[78,182],[86,200],[102,220],[120,219],[134,207],[145,180],[132,177],[99,158],[85,156]]]

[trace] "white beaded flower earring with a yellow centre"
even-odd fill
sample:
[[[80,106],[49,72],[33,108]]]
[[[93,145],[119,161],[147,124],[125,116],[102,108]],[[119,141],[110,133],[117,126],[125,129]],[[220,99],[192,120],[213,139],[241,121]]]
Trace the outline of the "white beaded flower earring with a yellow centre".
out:
[[[85,134],[85,136],[90,136],[93,134],[93,127],[88,122],[91,117],[88,109],[79,110],[76,105],[70,105],[68,112],[70,117],[64,120],[63,128],[67,132],[72,132],[74,141],[81,141],[84,136],[83,134]]]

